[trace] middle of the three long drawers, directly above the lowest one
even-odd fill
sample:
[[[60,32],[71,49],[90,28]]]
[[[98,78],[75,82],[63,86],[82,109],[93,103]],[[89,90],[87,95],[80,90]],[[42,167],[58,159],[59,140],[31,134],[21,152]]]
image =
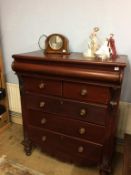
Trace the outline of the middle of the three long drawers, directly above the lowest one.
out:
[[[58,117],[53,114],[29,110],[29,124],[40,128],[46,128],[55,132],[86,139],[92,142],[104,143],[105,127],[83,122],[80,120]]]

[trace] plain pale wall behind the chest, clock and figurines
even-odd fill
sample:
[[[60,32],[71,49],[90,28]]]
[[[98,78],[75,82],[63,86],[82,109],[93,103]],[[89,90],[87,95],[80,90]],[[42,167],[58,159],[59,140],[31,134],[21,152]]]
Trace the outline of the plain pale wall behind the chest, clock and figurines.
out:
[[[17,83],[12,54],[38,50],[42,34],[64,34],[70,50],[84,52],[92,28],[103,41],[114,33],[118,54],[128,55],[122,101],[131,102],[130,0],[0,0],[0,41],[8,82]]]

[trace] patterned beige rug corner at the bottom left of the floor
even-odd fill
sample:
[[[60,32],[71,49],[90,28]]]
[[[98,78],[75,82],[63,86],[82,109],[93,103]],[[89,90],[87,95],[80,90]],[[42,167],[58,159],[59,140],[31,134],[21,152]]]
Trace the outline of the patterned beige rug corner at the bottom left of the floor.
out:
[[[0,175],[45,175],[27,168],[15,161],[8,160],[5,155],[0,157]]]

